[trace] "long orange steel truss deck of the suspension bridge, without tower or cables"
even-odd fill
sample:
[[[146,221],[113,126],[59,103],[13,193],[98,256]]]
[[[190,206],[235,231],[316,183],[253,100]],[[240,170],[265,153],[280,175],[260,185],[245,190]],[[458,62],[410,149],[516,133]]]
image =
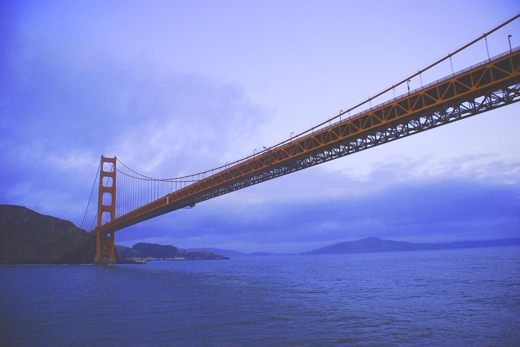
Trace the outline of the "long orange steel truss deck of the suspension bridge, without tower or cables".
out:
[[[520,101],[518,84],[520,50],[515,49],[290,143],[270,148],[113,219],[94,231],[101,235],[113,233],[233,190]],[[504,96],[493,94],[496,92]],[[476,107],[478,98],[484,102]],[[501,103],[493,104],[497,98]],[[464,112],[464,116],[460,116]],[[399,133],[402,129],[406,131]]]

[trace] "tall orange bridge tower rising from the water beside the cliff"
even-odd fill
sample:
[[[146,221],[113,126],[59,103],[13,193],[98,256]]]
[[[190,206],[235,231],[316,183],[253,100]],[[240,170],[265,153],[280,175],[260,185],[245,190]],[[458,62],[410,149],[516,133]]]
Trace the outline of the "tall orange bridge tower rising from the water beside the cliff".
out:
[[[115,177],[117,158],[101,156],[101,168],[99,174],[99,198],[97,227],[115,219]],[[108,220],[107,220],[108,219]],[[115,233],[101,235],[96,232],[96,258],[95,264],[115,264]]]

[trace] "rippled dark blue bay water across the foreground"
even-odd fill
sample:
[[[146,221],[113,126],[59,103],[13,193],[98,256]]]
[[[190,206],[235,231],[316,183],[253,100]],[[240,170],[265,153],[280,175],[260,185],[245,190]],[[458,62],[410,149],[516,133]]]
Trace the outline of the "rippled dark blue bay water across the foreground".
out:
[[[1,346],[518,346],[520,247],[0,266]]]

